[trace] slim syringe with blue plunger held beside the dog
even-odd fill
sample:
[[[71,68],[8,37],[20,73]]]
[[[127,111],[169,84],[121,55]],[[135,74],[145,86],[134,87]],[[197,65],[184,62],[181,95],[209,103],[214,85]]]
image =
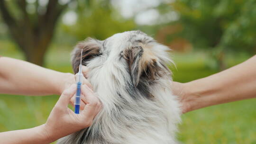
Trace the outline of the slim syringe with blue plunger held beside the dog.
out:
[[[78,73],[75,74],[76,76],[76,95],[75,95],[75,113],[79,114],[79,109],[80,109],[80,96],[81,96],[81,85],[82,85],[82,49],[81,49],[81,57],[80,57],[80,64],[79,64],[79,71]]]

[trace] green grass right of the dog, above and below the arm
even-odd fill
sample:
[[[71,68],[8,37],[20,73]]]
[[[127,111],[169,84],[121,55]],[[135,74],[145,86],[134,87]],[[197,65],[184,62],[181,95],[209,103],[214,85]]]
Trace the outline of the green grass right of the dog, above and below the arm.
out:
[[[206,59],[204,54],[175,54],[174,81],[192,81],[218,72],[206,68]],[[228,61],[235,65],[244,60]],[[182,119],[178,139],[184,144],[256,144],[256,99],[202,108]]]

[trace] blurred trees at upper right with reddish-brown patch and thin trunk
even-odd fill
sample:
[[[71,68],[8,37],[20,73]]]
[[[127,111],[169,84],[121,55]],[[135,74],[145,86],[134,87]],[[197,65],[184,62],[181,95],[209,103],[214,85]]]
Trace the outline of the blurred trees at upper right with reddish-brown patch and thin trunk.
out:
[[[173,18],[153,27],[159,42],[180,52],[203,50],[208,67],[223,70],[228,53],[256,54],[255,8],[256,0],[174,0],[158,6],[159,21]]]

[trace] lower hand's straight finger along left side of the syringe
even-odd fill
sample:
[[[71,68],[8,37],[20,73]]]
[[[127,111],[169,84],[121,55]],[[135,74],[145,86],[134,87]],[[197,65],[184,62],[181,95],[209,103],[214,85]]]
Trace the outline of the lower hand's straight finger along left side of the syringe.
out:
[[[75,94],[75,91],[76,91],[76,85],[72,84],[68,89],[63,91],[59,100],[56,103],[56,106],[67,107],[70,99]]]

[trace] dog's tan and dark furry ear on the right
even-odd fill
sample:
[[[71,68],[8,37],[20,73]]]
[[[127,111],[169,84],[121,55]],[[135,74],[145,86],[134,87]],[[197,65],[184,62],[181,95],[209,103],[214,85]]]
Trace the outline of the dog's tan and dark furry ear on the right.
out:
[[[140,80],[152,82],[158,80],[168,68],[159,62],[150,48],[140,45],[125,49],[123,57],[128,62],[131,81],[135,87]]]

